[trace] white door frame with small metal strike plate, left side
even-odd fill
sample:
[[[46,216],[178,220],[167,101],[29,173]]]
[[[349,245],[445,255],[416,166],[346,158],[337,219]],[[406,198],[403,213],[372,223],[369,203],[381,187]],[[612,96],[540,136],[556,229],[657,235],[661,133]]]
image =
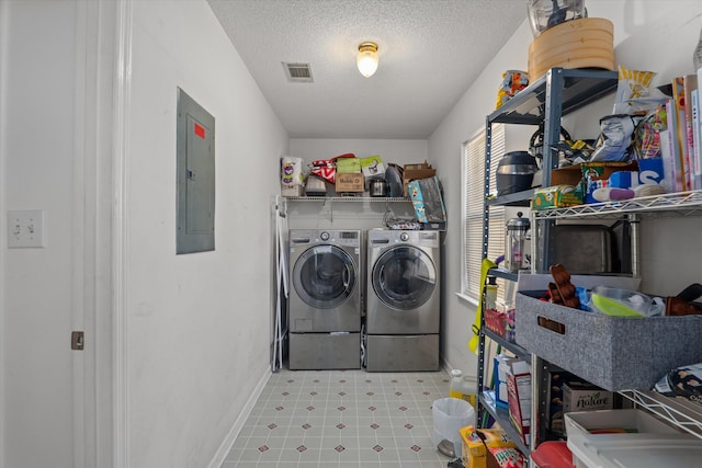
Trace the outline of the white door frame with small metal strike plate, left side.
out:
[[[76,32],[72,330],[77,468],[127,468],[126,346],[132,0],[79,1]]]

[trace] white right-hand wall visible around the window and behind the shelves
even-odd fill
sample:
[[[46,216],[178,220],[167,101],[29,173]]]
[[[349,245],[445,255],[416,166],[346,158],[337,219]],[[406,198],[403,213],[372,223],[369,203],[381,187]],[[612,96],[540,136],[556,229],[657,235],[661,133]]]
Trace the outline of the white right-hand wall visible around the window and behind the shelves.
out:
[[[692,53],[702,26],[702,3],[698,0],[588,0],[592,18],[614,23],[616,60],[630,69],[654,70],[654,84],[669,82],[673,76],[692,72]],[[533,39],[526,22],[486,67],[461,101],[429,139],[429,153],[435,162],[446,193],[449,232],[444,265],[444,358],[453,367],[475,374],[476,358],[468,351],[475,307],[455,296],[461,290],[461,144],[485,125],[485,116],[495,110],[495,96],[501,73],[526,69],[528,46]],[[595,138],[598,122],[611,113],[611,103],[600,103],[564,119],[564,126],[578,138]],[[508,135],[509,137],[509,135]],[[514,141],[510,141],[514,144]],[[523,142],[523,147],[528,141]],[[697,232],[700,218],[654,220],[643,225],[642,289],[657,294],[677,294],[699,282],[702,249]],[[684,261],[681,261],[684,259]],[[675,274],[671,272],[675,271]]]

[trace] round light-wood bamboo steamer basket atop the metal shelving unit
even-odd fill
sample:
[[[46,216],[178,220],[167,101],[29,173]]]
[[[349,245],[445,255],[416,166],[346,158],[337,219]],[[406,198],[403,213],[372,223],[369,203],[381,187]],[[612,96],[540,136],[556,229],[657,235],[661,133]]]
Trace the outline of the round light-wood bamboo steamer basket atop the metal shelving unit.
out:
[[[566,21],[529,45],[529,80],[553,67],[614,70],[614,25],[602,18]]]

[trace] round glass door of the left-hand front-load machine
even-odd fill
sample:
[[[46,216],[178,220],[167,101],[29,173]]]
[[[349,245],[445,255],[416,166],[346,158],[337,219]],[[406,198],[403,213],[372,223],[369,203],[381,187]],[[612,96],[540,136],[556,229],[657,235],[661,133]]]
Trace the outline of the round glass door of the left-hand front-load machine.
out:
[[[343,304],[355,288],[353,260],[336,246],[313,247],[295,262],[293,284],[308,306],[331,309]]]

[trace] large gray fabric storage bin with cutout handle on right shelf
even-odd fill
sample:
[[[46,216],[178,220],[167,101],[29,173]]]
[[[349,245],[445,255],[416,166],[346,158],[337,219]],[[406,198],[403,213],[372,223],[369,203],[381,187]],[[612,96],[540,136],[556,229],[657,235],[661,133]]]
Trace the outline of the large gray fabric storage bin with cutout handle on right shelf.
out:
[[[550,304],[540,300],[550,278],[520,275],[517,343],[585,380],[610,391],[650,388],[671,368],[702,355],[702,317],[610,317]],[[638,288],[631,277],[573,275],[570,281],[588,288]]]

